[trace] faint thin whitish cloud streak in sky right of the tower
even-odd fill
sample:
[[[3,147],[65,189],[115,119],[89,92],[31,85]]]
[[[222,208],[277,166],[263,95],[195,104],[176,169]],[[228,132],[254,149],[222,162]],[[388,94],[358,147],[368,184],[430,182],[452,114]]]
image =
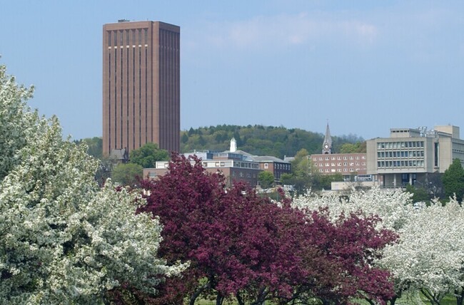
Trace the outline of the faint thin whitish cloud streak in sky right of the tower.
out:
[[[340,42],[365,46],[374,43],[378,36],[376,26],[365,21],[304,13],[204,24],[197,33],[197,43],[206,40],[204,43],[209,46],[246,50]]]

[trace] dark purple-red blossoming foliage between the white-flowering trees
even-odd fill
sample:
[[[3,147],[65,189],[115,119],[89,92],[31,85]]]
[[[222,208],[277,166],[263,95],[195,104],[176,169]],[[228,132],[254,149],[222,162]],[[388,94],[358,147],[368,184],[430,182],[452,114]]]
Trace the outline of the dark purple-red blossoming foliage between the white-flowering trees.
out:
[[[326,211],[293,210],[256,195],[248,185],[226,188],[201,160],[173,155],[168,174],[144,180],[149,212],[163,224],[159,254],[190,261],[181,279],[168,279],[151,304],[181,304],[188,296],[235,297],[239,304],[279,304],[318,298],[346,304],[351,296],[382,303],[393,291],[388,272],[372,267],[378,250],[395,239],[378,219],[356,215],[332,223]],[[308,217],[309,214],[309,217]]]

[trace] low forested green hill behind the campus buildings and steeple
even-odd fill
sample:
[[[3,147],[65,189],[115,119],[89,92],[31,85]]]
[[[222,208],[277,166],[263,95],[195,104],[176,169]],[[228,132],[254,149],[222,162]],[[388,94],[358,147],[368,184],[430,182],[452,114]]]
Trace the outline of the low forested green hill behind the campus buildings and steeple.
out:
[[[298,128],[287,129],[283,126],[263,125],[217,125],[202,127],[181,132],[181,152],[193,150],[224,151],[229,149],[231,138],[237,141],[238,150],[252,155],[272,155],[283,158],[294,156],[302,148],[309,154],[321,153],[324,136]],[[332,137],[333,150],[338,152],[344,143],[360,143],[361,138],[355,135]]]

